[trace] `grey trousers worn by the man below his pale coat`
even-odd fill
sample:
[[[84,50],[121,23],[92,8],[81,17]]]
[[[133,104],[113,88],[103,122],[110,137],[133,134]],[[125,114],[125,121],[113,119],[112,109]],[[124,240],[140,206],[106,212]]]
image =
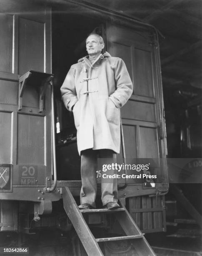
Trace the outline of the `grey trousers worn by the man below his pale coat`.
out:
[[[82,188],[80,192],[80,203],[88,203],[95,206],[97,194],[97,158],[105,158],[108,162],[116,160],[116,154],[110,149],[92,150],[86,149],[81,152],[81,180]],[[104,163],[104,162],[103,162]],[[109,174],[109,172],[107,172]],[[116,170],[110,170],[110,174],[115,174]],[[101,170],[101,174],[103,174]],[[102,204],[107,202],[117,202],[117,179],[104,179],[101,175],[101,200]]]

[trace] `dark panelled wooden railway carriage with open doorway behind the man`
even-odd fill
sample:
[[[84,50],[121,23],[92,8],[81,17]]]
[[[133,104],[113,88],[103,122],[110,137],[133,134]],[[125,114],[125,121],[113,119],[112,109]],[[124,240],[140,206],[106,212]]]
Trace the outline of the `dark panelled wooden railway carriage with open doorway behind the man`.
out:
[[[138,255],[154,255],[142,232],[165,231],[168,190],[157,31],[72,1],[2,0],[0,7],[0,231],[29,234],[55,228],[68,233],[73,225],[88,255],[95,251],[90,252],[84,235],[92,229],[102,230],[101,238],[91,237],[96,246],[104,243],[96,247],[99,255],[114,255],[120,240],[122,254],[134,253],[137,246]],[[103,36],[112,56],[125,61],[134,84],[121,110],[119,161],[163,160],[153,173],[161,177],[157,182],[120,179],[122,211],[109,215],[100,210],[86,217],[76,204],[81,187],[76,129],[61,102],[60,86],[71,64],[86,55],[85,37],[92,31]],[[82,231],[75,218],[84,225]]]

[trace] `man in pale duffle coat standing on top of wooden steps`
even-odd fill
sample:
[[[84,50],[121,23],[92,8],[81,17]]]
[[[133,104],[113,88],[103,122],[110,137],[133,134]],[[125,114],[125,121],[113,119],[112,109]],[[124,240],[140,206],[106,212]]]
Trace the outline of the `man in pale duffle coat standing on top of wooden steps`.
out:
[[[132,94],[132,82],[122,59],[102,54],[105,44],[92,33],[86,39],[88,56],[71,66],[61,87],[62,100],[73,111],[81,155],[80,209],[95,208],[97,157],[113,159],[120,152],[120,108]],[[117,179],[103,182],[102,204],[117,203]]]

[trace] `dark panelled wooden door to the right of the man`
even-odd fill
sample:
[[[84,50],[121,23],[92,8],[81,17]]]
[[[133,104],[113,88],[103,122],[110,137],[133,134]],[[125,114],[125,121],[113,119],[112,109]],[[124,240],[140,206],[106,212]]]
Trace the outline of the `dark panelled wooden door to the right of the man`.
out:
[[[165,123],[161,121],[162,85],[158,78],[160,66],[157,64],[157,45],[151,43],[152,38],[151,31],[107,26],[107,49],[112,56],[125,61],[133,82],[133,94],[121,108],[125,151],[129,164],[132,161],[130,159],[159,159],[166,156],[166,147],[158,132]],[[166,183],[167,170],[161,172],[162,175],[159,175],[165,178],[161,183]],[[134,172],[128,174],[132,173]],[[139,181],[127,179],[127,183]],[[125,181],[121,180],[122,182]]]

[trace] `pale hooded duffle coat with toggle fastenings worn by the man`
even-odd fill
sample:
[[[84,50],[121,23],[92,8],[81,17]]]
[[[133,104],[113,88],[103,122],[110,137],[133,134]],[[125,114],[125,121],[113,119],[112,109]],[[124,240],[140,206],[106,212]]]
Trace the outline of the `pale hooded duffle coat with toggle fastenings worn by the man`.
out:
[[[120,152],[120,108],[132,94],[132,82],[122,59],[105,52],[93,64],[88,56],[71,66],[61,87],[72,111],[78,152],[92,148]]]

